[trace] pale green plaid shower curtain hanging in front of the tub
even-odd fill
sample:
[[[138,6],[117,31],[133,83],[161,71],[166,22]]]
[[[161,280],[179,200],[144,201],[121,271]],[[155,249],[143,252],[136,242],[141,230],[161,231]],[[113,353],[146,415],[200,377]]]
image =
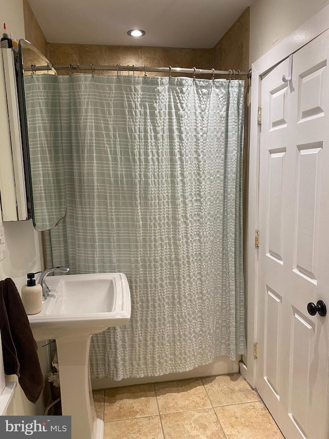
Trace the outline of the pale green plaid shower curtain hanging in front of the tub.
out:
[[[244,81],[49,80],[60,90],[67,215],[46,233],[47,265],[123,272],[131,290],[130,323],[92,338],[92,377],[184,372],[245,354]]]

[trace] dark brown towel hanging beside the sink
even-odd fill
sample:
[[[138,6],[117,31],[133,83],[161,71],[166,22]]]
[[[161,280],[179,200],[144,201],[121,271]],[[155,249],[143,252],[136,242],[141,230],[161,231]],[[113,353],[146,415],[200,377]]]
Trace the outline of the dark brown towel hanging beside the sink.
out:
[[[0,281],[0,330],[5,374],[17,375],[27,399],[35,403],[44,378],[21,296],[10,278]]]

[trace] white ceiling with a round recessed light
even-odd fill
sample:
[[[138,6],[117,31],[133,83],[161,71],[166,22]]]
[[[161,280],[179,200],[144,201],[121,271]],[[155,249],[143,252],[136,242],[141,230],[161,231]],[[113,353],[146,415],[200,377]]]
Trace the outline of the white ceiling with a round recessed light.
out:
[[[49,43],[212,48],[253,0],[29,0]],[[146,35],[132,38],[130,29]]]

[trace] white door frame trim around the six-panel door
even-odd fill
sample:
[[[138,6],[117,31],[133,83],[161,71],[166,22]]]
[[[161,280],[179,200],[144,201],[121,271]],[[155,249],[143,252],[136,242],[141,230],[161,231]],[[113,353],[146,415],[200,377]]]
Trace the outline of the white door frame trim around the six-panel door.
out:
[[[257,344],[258,341],[258,249],[255,247],[255,231],[259,230],[260,125],[258,125],[258,108],[261,106],[262,76],[327,29],[329,29],[329,5],[251,65],[245,282],[247,291],[247,355],[243,356],[243,360],[240,362],[240,372],[253,388],[256,387],[257,368],[257,359],[254,358],[254,344]],[[287,75],[288,72],[286,72]],[[261,236],[260,239],[264,238]]]

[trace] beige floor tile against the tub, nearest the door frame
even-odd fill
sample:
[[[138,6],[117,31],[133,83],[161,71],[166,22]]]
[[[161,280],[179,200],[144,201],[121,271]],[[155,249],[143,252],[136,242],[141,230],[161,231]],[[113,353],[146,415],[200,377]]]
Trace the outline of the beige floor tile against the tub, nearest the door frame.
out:
[[[202,381],[213,407],[261,399],[240,374],[205,377]]]

